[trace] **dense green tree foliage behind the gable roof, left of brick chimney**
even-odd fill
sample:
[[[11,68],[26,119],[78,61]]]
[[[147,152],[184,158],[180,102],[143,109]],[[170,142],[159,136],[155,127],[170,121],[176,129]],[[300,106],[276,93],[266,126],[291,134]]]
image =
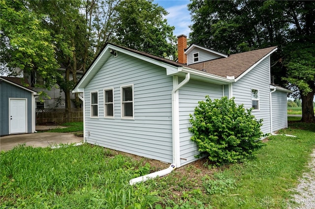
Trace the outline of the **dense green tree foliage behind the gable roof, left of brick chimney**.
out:
[[[153,55],[175,58],[174,26],[169,26],[163,18],[167,15],[163,7],[152,0],[123,0],[116,11],[119,22],[115,43]]]

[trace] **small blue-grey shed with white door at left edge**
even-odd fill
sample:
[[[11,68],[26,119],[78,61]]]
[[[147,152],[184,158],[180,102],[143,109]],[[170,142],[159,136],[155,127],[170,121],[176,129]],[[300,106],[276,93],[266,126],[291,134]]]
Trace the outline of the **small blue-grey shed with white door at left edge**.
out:
[[[35,131],[36,92],[22,79],[0,77],[0,135]]]

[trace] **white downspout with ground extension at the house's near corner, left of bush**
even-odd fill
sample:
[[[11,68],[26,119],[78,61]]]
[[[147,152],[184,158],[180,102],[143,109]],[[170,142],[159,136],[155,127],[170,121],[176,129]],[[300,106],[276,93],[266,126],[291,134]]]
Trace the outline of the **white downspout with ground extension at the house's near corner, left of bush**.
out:
[[[178,90],[188,83],[190,74],[187,73],[185,79],[178,84],[178,77],[173,77],[173,90],[172,90],[172,132],[173,132],[173,163],[166,169],[157,171],[145,176],[131,179],[130,185],[138,182],[145,182],[148,179],[165,176],[175,170],[176,167],[180,167],[180,139],[179,139],[179,95]]]

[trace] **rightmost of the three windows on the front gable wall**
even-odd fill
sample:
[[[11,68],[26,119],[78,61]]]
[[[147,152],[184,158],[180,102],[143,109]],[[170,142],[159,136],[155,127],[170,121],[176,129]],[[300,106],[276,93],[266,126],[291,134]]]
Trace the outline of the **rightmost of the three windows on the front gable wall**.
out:
[[[122,86],[122,118],[133,119],[133,85]]]

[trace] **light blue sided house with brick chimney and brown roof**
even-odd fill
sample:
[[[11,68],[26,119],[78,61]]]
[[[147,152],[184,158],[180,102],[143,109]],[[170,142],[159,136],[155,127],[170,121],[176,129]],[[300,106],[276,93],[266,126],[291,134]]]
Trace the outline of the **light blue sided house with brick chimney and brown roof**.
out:
[[[189,114],[206,95],[235,97],[253,108],[264,133],[287,127],[289,91],[270,84],[270,55],[277,47],[226,55],[187,48],[186,36],[178,38],[178,62],[104,47],[73,90],[84,95],[85,141],[183,166],[199,153],[190,140]]]

